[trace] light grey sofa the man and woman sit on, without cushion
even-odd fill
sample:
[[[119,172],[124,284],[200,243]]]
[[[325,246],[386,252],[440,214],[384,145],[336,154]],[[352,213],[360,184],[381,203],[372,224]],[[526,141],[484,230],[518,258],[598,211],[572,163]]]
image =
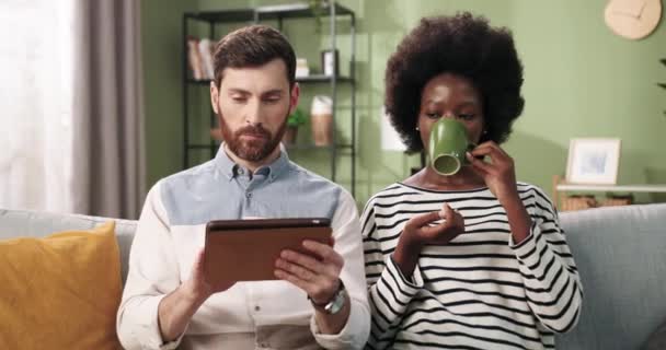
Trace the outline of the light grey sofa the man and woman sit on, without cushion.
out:
[[[0,240],[90,229],[107,220],[0,210]],[[563,212],[560,220],[585,298],[577,327],[558,336],[558,349],[642,349],[666,322],[666,203]],[[135,229],[136,221],[116,220],[123,282]]]

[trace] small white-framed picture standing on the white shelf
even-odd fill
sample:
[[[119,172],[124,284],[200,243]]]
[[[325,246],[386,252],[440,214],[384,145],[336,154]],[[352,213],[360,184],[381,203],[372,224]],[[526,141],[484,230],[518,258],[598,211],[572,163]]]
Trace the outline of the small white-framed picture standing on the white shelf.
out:
[[[615,185],[620,164],[620,139],[572,139],[569,143],[566,182]]]

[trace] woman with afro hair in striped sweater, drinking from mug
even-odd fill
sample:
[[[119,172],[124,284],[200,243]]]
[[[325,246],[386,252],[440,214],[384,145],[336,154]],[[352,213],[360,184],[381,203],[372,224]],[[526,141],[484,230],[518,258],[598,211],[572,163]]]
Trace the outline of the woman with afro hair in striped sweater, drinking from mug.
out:
[[[558,214],[500,147],[521,84],[512,34],[469,13],[423,19],[389,59],[386,107],[410,151],[440,118],[479,145],[457,174],[427,166],[368,201],[368,348],[552,349],[576,324],[582,285]]]

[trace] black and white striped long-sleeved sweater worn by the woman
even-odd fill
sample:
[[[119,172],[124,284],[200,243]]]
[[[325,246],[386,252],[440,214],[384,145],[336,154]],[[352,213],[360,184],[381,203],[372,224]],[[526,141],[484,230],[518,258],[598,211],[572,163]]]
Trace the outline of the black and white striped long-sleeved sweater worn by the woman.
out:
[[[487,188],[435,191],[394,184],[361,215],[372,307],[368,349],[553,349],[554,332],[576,324],[583,291],[576,266],[543,191],[518,184],[532,219],[514,244],[504,208]],[[413,276],[391,256],[405,222],[444,202],[466,233],[423,248]]]

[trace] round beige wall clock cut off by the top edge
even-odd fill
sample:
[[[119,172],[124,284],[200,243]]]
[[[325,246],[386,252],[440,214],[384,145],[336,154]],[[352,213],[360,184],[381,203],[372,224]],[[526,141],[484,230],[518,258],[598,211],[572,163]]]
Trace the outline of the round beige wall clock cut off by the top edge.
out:
[[[617,35],[640,39],[652,33],[662,18],[661,0],[610,0],[604,19]]]

